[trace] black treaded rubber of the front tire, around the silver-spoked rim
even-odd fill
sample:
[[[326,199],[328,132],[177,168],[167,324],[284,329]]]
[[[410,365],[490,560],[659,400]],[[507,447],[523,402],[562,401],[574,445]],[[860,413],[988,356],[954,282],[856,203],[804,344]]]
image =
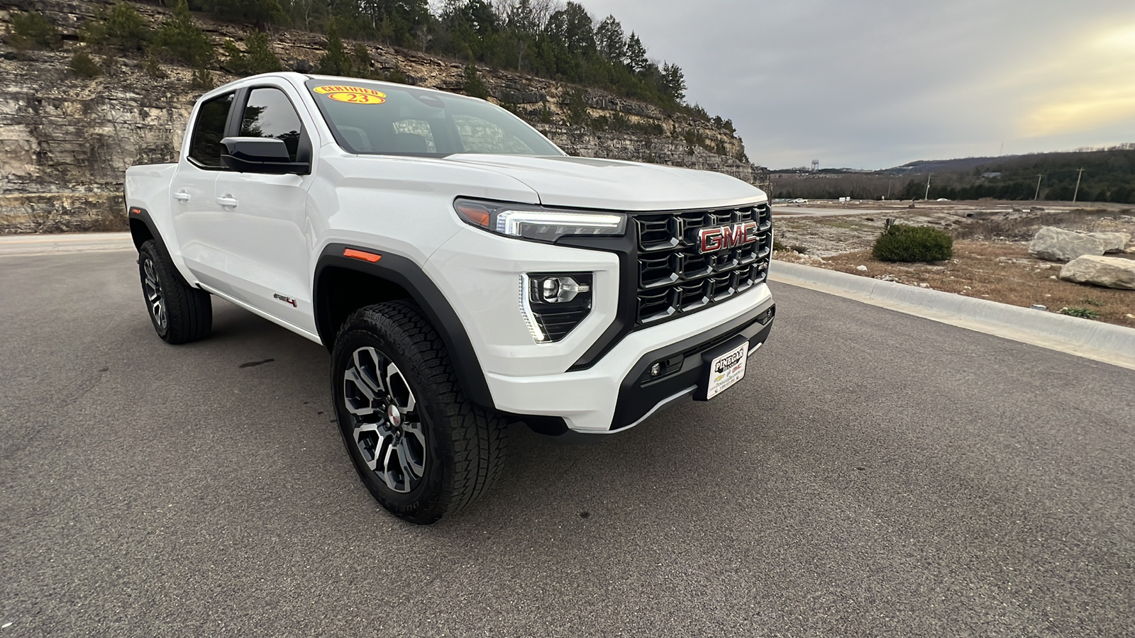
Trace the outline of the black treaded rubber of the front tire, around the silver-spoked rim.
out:
[[[355,353],[360,349],[373,349],[393,362],[418,405],[415,418],[426,435],[424,468],[405,493],[392,489],[368,465],[355,439],[355,427],[364,419],[347,408],[344,377],[350,369],[359,369]],[[465,397],[442,337],[413,302],[378,303],[347,318],[331,352],[331,392],[343,443],[359,477],[396,517],[430,524],[453,515],[488,492],[504,468],[507,423]],[[392,421],[386,415],[377,419]]]

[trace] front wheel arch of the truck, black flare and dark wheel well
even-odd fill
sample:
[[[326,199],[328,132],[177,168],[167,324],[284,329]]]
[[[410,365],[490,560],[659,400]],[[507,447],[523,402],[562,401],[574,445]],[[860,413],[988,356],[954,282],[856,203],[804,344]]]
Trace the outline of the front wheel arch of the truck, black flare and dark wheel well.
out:
[[[348,249],[379,254],[380,259],[370,262],[344,257],[344,251]],[[442,336],[457,379],[470,401],[482,408],[496,408],[472,341],[457,313],[412,260],[364,246],[329,244],[316,262],[312,293],[316,329],[328,350],[335,345],[339,326],[355,310],[396,299],[412,300]]]

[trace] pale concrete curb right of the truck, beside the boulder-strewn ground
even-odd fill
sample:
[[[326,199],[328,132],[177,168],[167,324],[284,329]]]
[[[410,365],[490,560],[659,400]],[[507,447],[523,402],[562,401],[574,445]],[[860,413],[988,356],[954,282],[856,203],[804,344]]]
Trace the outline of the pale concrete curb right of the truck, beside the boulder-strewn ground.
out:
[[[1135,370],[1132,328],[784,261],[770,278]]]

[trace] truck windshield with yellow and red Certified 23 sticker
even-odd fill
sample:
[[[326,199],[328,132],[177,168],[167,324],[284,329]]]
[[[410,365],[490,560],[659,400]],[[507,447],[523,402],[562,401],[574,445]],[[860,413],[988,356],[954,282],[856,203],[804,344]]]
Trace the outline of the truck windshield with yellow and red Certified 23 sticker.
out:
[[[532,127],[481,100],[364,79],[309,79],[335,141],[352,153],[563,156]]]

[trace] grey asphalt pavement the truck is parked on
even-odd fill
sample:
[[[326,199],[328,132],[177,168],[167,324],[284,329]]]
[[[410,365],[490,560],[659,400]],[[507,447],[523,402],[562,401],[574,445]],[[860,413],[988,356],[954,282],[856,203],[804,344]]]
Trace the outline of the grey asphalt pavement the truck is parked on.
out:
[[[1123,636],[1135,373],[805,288],[747,378],[595,445],[515,427],[432,527],[359,482],[328,354],[131,252],[0,255],[0,638]]]

